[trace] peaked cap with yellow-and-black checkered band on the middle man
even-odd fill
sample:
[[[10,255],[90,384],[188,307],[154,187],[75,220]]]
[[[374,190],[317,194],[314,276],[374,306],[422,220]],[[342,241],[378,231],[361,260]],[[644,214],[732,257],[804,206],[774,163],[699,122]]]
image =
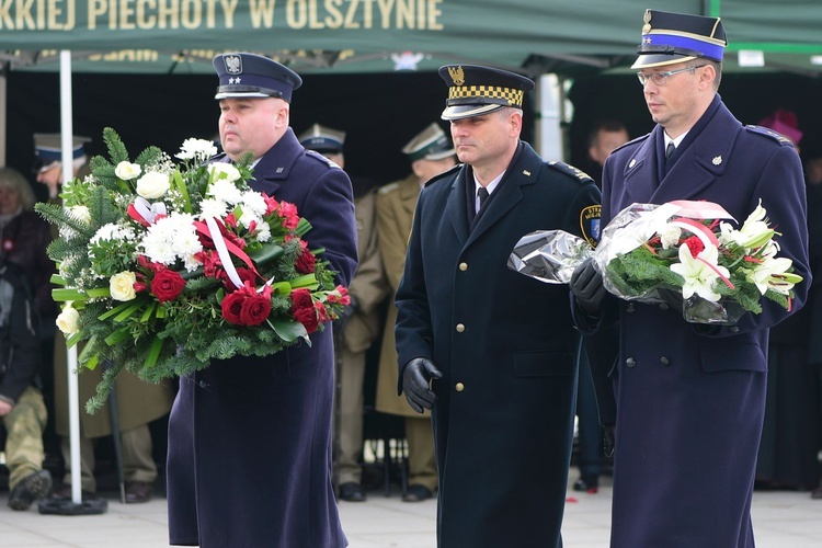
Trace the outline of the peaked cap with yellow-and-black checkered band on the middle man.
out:
[[[524,76],[475,65],[439,67],[439,77],[448,84],[443,119],[470,118],[503,106],[522,109],[525,92],[534,89]]]

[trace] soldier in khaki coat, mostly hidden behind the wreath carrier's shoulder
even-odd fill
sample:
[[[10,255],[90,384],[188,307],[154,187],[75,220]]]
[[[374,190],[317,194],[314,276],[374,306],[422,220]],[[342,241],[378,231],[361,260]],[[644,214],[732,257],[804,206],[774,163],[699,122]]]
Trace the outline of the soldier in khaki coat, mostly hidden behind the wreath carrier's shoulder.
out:
[[[299,137],[309,150],[321,153],[341,169],[345,169],[343,145],[345,133],[313,124]],[[376,189],[362,184],[366,180],[351,176],[354,191],[354,214],[357,224],[357,256],[359,264],[349,287],[351,305],[334,322],[334,355],[338,368],[336,435],[339,453],[339,498],[363,502],[363,408],[366,351],[379,336],[380,305],[388,295],[383,263],[377,246]],[[359,184],[357,184],[359,183]]]

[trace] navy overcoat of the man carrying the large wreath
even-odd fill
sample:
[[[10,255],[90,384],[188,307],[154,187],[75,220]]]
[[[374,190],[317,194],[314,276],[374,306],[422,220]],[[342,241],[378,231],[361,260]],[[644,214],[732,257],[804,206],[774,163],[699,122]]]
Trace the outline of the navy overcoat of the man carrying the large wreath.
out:
[[[347,285],[357,264],[351,182],[288,129],[254,168],[251,186],[295,204],[310,249]],[[334,386],[331,323],[311,346],[214,361],[180,379],[169,420],[172,545],[340,548],[331,488]]]

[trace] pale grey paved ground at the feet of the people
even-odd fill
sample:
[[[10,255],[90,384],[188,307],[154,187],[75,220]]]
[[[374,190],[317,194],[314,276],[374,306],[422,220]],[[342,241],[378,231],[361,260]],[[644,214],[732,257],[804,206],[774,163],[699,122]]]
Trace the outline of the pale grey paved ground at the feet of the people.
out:
[[[572,478],[574,473],[572,472]],[[2,548],[160,548],[168,546],[165,499],[146,504],[121,504],[106,492],[109,510],[102,515],[41,515],[35,507],[12,512],[8,491],[0,492]],[[567,548],[608,545],[610,488],[608,479],[597,494],[570,491],[563,538]],[[435,548],[436,503],[404,503],[399,490],[390,496],[369,492],[365,503],[340,504],[351,548]],[[807,492],[756,492],[754,529],[758,548],[819,548],[822,546],[822,500]],[[227,547],[229,548],[229,547]],[[320,548],[320,547],[318,547]],[[516,548],[516,547],[512,547]]]

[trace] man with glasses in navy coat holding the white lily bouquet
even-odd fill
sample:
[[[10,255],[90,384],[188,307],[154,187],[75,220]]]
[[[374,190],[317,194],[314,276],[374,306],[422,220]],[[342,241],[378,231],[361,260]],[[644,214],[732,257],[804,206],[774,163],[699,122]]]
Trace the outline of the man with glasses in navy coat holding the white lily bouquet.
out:
[[[718,18],[646,11],[633,68],[657,126],[606,160],[602,221],[632,203],[690,199],[742,222],[762,201],[779,255],[804,281],[789,311],[762,299],[762,313],[717,326],[687,323],[678,293],[629,302],[604,292],[591,263],[574,272],[579,328],[592,338],[618,329],[613,359],[592,368],[616,392],[615,548],[754,546],[768,331],[806,300],[808,231],[799,155],[773,132],[743,126],[717,93],[726,45]]]

